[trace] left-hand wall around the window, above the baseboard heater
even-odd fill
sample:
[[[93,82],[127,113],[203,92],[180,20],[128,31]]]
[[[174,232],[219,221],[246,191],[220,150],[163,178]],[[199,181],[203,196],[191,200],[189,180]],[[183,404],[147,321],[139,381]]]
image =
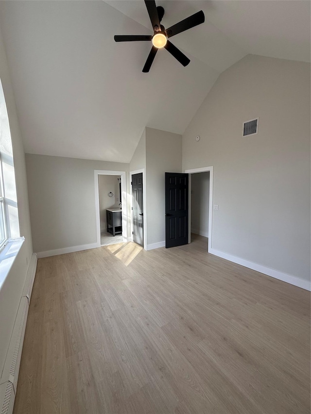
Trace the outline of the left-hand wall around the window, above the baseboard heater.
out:
[[[25,242],[20,249],[14,265],[12,266],[0,291],[0,373],[3,369],[7,349],[9,346],[17,309],[21,298],[24,282],[26,279],[28,264],[33,253],[25,154],[22,144],[21,133],[18,125],[17,111],[14,94],[7,66],[6,53],[0,33],[0,78],[3,86],[6,107],[9,116],[14,166],[17,191],[17,206],[19,216],[19,232],[25,237]]]

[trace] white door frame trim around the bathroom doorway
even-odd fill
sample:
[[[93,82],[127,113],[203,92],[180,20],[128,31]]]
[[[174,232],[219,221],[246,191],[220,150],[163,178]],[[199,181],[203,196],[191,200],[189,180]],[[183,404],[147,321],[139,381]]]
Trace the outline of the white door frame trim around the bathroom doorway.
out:
[[[99,175],[121,175],[121,203],[122,203],[122,236],[123,242],[127,241],[127,191],[126,191],[126,171],[94,170],[95,182],[95,216],[96,216],[96,235],[97,247],[101,247],[101,215],[99,208]]]

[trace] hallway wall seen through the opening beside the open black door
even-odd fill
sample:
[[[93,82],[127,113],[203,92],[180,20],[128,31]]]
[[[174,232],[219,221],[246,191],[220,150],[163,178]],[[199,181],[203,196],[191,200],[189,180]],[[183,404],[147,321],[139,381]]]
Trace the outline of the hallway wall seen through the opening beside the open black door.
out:
[[[191,174],[191,233],[208,237],[209,172]]]

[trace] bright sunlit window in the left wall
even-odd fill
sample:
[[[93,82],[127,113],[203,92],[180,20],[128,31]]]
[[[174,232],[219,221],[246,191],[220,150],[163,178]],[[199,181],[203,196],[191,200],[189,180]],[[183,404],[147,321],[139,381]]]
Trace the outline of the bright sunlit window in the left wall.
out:
[[[11,132],[0,81],[0,249],[10,237],[19,237],[19,222]]]

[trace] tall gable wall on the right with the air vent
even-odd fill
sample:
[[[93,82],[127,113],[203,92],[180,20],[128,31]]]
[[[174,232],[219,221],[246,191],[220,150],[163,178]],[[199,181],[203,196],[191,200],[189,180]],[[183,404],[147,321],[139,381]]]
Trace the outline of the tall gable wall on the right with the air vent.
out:
[[[223,72],[183,135],[183,169],[203,166],[212,248],[310,280],[310,65],[247,55]]]

